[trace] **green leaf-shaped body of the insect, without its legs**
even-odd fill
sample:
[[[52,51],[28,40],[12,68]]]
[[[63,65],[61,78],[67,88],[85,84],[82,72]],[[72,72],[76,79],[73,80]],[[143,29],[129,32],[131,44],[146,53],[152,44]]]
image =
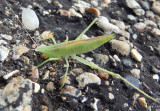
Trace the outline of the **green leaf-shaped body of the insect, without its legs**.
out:
[[[92,51],[110,39],[114,38],[114,35],[103,35],[91,39],[80,39],[68,42],[62,42],[52,46],[41,46],[36,50],[43,53],[49,58],[61,58],[72,56],[75,54],[82,54]]]

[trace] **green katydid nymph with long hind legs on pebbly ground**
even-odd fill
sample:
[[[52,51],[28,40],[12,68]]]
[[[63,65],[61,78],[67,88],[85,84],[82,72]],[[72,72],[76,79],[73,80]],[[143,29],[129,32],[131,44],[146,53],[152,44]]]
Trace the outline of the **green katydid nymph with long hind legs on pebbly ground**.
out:
[[[60,89],[64,86],[65,84],[65,79],[68,73],[68,69],[69,69],[69,62],[68,62],[68,57],[72,57],[73,59],[76,59],[77,61],[88,65],[92,68],[101,70],[103,72],[106,72],[114,77],[120,78],[121,80],[123,80],[124,82],[126,82],[127,84],[129,84],[130,86],[132,86],[134,89],[136,89],[138,92],[142,93],[144,96],[146,96],[147,98],[158,102],[156,99],[152,98],[151,96],[149,96],[148,94],[146,94],[145,92],[143,92],[142,90],[140,90],[139,88],[135,87],[133,84],[131,84],[130,82],[128,82],[126,79],[124,79],[123,77],[121,77],[119,74],[110,72],[106,69],[100,68],[99,66],[97,66],[94,63],[88,62],[85,59],[82,59],[78,56],[76,56],[76,54],[82,54],[82,53],[86,53],[89,51],[92,51],[96,48],[98,48],[99,46],[103,45],[104,43],[108,42],[109,40],[111,40],[112,38],[115,37],[114,34],[111,35],[103,35],[103,36],[99,36],[99,37],[95,37],[95,38],[90,38],[90,39],[80,39],[84,33],[98,20],[98,18],[95,18],[91,24],[75,39],[72,41],[68,41],[68,37],[66,37],[66,41],[62,42],[62,43],[56,43],[55,39],[53,37],[49,37],[49,38],[45,38],[45,39],[41,39],[41,40],[46,40],[46,39],[52,39],[54,45],[51,46],[41,46],[41,47],[37,47],[36,51],[43,53],[45,56],[48,57],[47,60],[45,60],[44,62],[42,62],[40,65],[37,66],[40,67],[43,64],[47,63],[48,61],[53,61],[53,60],[59,60],[61,57],[65,58],[66,64],[67,64],[67,68],[66,68],[66,72],[64,74],[64,80],[63,83],[60,87]]]

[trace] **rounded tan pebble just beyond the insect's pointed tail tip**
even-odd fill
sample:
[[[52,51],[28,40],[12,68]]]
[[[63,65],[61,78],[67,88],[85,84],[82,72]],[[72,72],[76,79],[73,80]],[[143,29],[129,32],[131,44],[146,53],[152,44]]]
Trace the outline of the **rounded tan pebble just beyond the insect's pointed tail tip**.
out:
[[[110,41],[112,45],[112,49],[116,50],[117,52],[121,53],[122,55],[128,56],[130,53],[130,45],[126,42],[119,41],[112,39]]]

